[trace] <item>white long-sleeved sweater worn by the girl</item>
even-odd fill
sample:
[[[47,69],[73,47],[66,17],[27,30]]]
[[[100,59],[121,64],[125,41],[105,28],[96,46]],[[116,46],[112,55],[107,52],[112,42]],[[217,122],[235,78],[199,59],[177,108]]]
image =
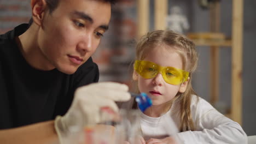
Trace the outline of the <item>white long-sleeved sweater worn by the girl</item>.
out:
[[[222,115],[206,100],[193,95],[191,100],[191,115],[195,123],[195,131],[179,133],[181,124],[179,106],[175,103],[171,109],[161,117],[149,117],[141,113],[141,130],[144,139],[163,138],[176,135],[181,143],[237,143],[247,144],[247,135],[241,126]],[[160,137],[159,137],[160,136]],[[161,137],[162,136],[162,137]]]

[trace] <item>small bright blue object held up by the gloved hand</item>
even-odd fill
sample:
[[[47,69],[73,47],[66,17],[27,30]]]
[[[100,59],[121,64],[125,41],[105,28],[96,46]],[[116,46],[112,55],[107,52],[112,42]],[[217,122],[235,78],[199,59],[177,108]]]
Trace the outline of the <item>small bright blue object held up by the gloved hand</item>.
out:
[[[138,103],[139,110],[144,112],[148,107],[152,105],[152,100],[146,93],[135,94],[131,93],[132,97],[135,97],[135,101]]]

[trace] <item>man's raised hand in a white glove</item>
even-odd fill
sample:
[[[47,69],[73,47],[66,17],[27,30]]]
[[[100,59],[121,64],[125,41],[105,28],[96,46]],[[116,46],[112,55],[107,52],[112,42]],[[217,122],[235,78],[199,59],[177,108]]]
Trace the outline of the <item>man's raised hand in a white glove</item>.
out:
[[[68,112],[55,119],[55,130],[60,142],[72,133],[84,129],[86,125],[108,121],[110,117],[101,117],[101,108],[109,107],[118,112],[114,101],[127,101],[131,98],[128,87],[115,82],[98,82],[78,88]]]

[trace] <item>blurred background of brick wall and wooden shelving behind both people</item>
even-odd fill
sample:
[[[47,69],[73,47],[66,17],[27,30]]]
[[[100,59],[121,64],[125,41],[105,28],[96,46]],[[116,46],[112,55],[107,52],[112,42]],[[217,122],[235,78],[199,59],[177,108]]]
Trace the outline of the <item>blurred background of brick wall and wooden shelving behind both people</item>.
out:
[[[192,81],[197,94],[240,123],[247,135],[256,135],[255,7],[254,0],[120,0],[93,55],[100,81],[130,85],[139,36],[178,27],[199,52]],[[1,34],[30,17],[30,0],[0,0]]]

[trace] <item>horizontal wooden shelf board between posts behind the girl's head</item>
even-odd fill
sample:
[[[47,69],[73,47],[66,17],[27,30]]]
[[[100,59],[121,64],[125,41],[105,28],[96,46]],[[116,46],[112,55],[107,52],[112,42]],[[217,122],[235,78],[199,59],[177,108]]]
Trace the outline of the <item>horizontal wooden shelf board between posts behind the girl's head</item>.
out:
[[[201,39],[192,39],[193,42],[197,46],[226,46],[231,47],[232,41],[231,40],[201,40]]]

